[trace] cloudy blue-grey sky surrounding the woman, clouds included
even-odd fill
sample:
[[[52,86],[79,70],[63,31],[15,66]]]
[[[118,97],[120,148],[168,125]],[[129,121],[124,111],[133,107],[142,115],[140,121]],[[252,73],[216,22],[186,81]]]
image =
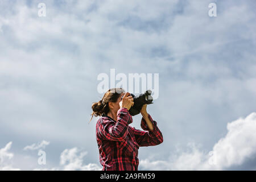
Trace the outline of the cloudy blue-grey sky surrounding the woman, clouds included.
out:
[[[139,170],[256,170],[255,5],[0,1],[0,170],[101,170],[89,119],[110,69],[159,74],[147,111],[164,141]]]

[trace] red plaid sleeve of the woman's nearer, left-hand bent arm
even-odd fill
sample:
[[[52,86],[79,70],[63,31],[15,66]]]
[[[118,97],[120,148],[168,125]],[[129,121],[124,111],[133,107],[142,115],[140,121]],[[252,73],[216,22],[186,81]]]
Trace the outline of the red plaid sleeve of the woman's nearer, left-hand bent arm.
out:
[[[99,134],[103,139],[121,141],[126,138],[129,124],[133,122],[129,111],[120,108],[117,111],[117,122],[111,119],[104,119],[99,126]]]

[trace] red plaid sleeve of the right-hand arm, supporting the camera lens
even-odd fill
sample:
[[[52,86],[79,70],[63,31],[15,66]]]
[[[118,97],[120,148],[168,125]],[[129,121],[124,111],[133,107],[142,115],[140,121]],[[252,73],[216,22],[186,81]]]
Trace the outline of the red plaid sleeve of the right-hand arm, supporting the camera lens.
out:
[[[157,122],[151,118],[150,114],[148,114],[148,118],[153,124],[153,127],[154,127],[153,131],[150,131],[148,129],[147,123],[143,117],[141,119],[141,127],[143,130],[146,130],[146,131],[137,130],[134,127],[132,127],[133,133],[140,147],[156,146],[163,142],[163,135],[159,130],[158,126],[156,125]]]

